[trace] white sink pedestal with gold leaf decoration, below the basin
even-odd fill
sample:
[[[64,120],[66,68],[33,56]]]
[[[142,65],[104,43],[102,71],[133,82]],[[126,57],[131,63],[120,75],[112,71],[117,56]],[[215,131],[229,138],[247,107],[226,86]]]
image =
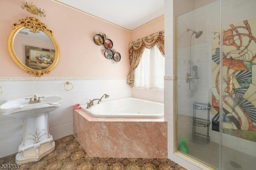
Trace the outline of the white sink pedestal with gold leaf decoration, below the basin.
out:
[[[49,113],[38,117],[23,118],[23,141],[16,154],[16,164],[37,162],[55,149],[55,142],[49,134]]]

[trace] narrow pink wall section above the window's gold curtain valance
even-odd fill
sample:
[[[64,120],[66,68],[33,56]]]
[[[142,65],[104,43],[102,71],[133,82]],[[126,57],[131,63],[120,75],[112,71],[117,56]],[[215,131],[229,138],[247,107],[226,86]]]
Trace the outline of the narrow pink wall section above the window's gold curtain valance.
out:
[[[132,31],[131,41],[146,37],[161,30],[164,30],[164,16]]]

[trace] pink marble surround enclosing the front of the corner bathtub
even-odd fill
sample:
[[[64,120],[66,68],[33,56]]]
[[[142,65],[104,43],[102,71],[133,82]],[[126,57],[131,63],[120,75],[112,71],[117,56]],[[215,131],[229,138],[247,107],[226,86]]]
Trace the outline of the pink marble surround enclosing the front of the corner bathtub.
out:
[[[74,136],[90,157],[166,158],[164,118],[98,118],[73,111]]]

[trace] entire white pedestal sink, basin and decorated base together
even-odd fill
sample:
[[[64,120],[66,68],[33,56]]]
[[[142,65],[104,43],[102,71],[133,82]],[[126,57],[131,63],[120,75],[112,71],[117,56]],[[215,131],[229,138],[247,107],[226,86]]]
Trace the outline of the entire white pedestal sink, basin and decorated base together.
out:
[[[28,104],[29,101],[25,98],[15,99],[0,106],[4,111],[2,115],[22,121],[23,141],[18,147],[16,164],[36,162],[55,149],[55,142],[49,133],[48,120],[49,114],[60,107],[62,97],[50,96],[40,100],[40,103],[32,101]]]

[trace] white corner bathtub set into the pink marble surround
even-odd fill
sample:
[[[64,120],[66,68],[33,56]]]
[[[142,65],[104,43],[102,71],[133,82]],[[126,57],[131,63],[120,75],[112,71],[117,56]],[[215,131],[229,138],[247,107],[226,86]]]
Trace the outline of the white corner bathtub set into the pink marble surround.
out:
[[[95,103],[97,101],[94,101]],[[125,98],[106,101],[100,105],[86,109],[81,108],[94,117],[133,117],[133,118],[160,118],[164,117],[164,104],[136,98]]]

